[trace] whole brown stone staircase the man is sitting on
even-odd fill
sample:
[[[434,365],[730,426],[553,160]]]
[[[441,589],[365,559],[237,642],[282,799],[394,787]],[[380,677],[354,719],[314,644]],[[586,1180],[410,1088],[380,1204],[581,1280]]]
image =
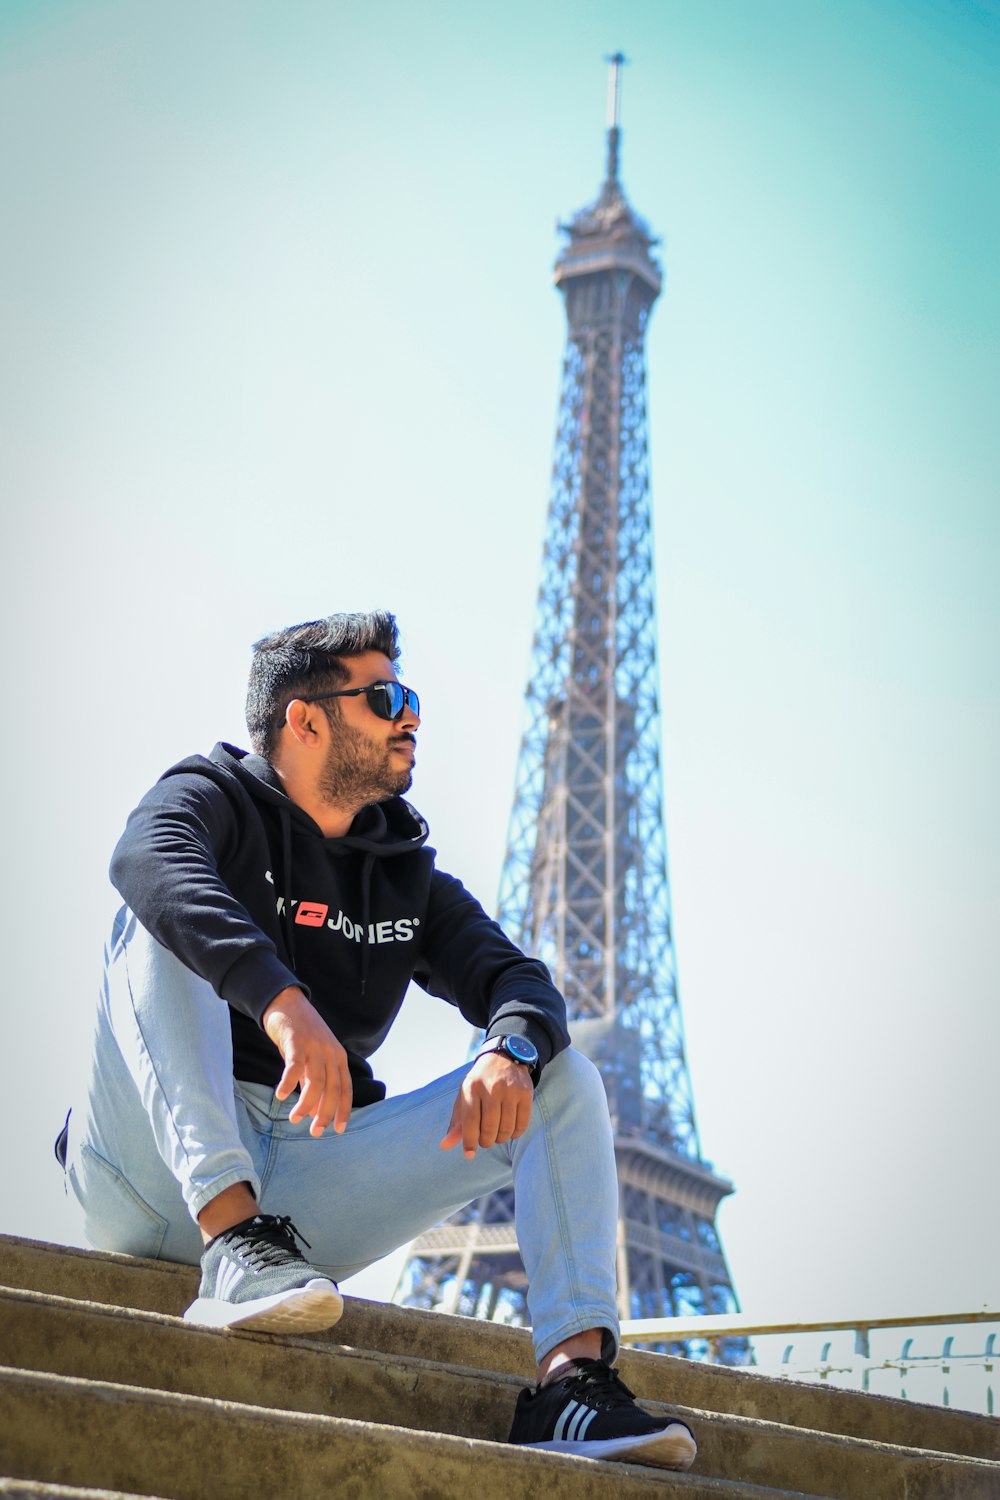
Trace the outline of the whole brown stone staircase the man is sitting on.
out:
[[[691,1473],[505,1444],[523,1329],[346,1299],[328,1334],[189,1328],[189,1266],[0,1238],[0,1497],[999,1500],[1000,1422],[625,1352]]]

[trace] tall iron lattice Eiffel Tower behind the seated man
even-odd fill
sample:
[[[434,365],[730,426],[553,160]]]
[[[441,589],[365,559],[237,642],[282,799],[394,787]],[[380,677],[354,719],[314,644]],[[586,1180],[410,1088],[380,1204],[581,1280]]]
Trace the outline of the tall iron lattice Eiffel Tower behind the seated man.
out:
[[[549,964],[573,1044],[604,1078],[621,1314],[691,1317],[738,1310],[715,1230],[732,1184],[702,1155],[678,1000],[643,352],[661,272],[621,184],[624,57],[609,62],[607,172],[597,201],[561,226],[555,266],[567,344],[498,916]],[[420,1236],[396,1300],[528,1322],[511,1191]]]

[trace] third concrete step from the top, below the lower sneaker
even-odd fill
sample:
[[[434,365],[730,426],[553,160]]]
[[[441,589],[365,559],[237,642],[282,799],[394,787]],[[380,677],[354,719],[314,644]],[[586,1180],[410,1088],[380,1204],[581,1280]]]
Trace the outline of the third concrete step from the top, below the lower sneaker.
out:
[[[268,1492],[295,1500],[445,1500],[484,1486],[504,1500],[663,1500],[666,1492],[684,1500],[804,1500],[796,1491],[699,1474],[16,1370],[0,1370],[0,1462],[12,1478],[168,1500]]]

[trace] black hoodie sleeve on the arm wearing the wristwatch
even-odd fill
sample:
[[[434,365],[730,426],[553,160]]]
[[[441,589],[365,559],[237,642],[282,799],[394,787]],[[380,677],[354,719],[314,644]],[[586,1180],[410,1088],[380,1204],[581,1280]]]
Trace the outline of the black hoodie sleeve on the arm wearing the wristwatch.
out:
[[[570,1046],[565,1000],[544,963],[526,958],[460,880],[435,870],[414,978],[487,1036],[528,1036],[547,1062]]]

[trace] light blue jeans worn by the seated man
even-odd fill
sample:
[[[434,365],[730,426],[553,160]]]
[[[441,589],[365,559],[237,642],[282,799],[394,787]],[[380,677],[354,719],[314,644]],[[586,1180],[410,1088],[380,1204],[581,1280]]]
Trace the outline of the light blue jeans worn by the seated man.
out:
[[[66,1170],[97,1250],[196,1264],[196,1215],[249,1182],[340,1281],[487,1192],[514,1186],[535,1358],[603,1328],[618,1352],[618,1178],[604,1086],[579,1053],[541,1076],[519,1140],[441,1150],[468,1065],[354,1110],[343,1136],[292,1125],[294,1100],[232,1077],[229,1011],[123,908],[106,951],[85,1098]]]

